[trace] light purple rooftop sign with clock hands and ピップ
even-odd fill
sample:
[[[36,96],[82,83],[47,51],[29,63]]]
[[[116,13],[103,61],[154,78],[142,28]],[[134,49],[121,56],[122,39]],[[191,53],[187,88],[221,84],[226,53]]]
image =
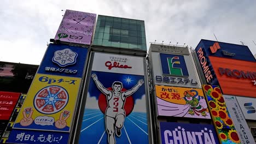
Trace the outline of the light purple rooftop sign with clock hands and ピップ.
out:
[[[96,14],[66,10],[55,40],[76,44],[91,44]]]

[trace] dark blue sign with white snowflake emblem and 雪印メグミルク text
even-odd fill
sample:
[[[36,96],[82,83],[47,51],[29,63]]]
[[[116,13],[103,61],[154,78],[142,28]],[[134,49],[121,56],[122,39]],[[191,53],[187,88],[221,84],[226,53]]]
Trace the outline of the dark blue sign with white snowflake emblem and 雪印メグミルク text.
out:
[[[82,77],[87,53],[85,47],[50,44],[38,73]]]

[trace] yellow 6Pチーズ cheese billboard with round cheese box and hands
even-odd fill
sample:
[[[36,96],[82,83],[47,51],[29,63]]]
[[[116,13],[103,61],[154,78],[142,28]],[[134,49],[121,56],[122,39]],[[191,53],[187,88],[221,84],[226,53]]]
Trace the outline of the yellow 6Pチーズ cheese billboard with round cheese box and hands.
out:
[[[77,77],[36,74],[14,128],[68,132],[79,87]]]

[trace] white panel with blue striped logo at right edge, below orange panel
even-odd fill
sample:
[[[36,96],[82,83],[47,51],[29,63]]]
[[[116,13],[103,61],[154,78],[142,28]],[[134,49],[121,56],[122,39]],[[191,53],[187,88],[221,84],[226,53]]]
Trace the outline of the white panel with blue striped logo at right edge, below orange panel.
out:
[[[256,98],[236,97],[246,119],[256,120]]]

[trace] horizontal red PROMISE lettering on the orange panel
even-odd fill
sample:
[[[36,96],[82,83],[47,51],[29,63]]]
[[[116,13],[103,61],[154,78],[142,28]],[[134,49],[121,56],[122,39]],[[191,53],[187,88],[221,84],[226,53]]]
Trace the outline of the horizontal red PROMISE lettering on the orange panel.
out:
[[[226,76],[230,77],[236,77],[236,78],[241,78],[243,77],[244,79],[256,79],[256,72],[251,72],[251,71],[246,71],[244,72],[243,70],[230,70],[227,68],[219,68],[219,73],[220,75],[226,74]]]

